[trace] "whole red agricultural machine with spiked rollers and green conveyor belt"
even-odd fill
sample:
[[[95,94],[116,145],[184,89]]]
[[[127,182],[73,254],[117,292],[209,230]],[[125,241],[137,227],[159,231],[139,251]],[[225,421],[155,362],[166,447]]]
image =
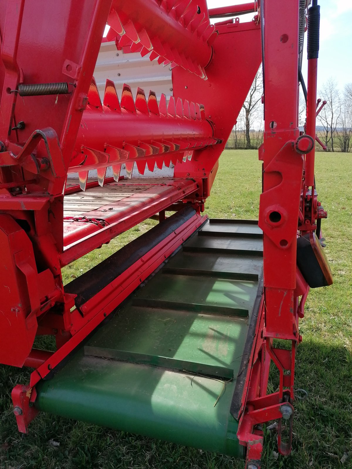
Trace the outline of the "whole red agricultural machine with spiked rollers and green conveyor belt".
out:
[[[309,287],[332,283],[314,181],[320,7],[308,3],[1,2],[0,362],[34,369],[12,392],[19,431],[44,411],[255,469],[261,424],[277,419],[290,453],[298,320]],[[208,219],[260,64],[259,221]],[[156,215],[63,285],[64,266]],[[45,334],[55,352],[33,346]]]

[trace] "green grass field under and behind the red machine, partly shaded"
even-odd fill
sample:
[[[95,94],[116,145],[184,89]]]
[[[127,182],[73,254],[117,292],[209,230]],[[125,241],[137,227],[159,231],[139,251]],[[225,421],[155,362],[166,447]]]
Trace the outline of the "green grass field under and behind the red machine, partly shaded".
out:
[[[319,153],[316,182],[329,213],[323,231],[335,283],[311,291],[300,323],[303,342],[295,382],[308,397],[295,404],[292,454],[277,457],[275,432],[266,430],[263,468],[352,468],[352,155]],[[224,151],[206,212],[218,218],[256,218],[260,190],[257,151]],[[65,282],[153,224],[147,220],[66,267]],[[10,393],[29,374],[0,366],[0,468],[244,468],[243,461],[227,456],[49,415],[38,416],[29,435],[21,436]],[[274,388],[274,374],[271,378]]]

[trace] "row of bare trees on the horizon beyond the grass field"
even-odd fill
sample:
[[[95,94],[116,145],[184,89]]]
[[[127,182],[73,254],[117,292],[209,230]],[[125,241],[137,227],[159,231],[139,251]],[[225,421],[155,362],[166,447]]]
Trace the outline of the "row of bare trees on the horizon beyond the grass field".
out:
[[[263,143],[263,109],[261,97],[263,81],[261,68],[254,78],[251,89],[245,99],[237,123],[232,129],[226,148],[258,149]],[[318,97],[326,101],[318,114],[316,133],[327,151],[352,151],[352,83],[347,83],[341,92],[333,78],[329,78],[318,90]],[[304,128],[306,103],[303,95],[299,96],[299,126]],[[316,144],[316,150],[321,149]]]

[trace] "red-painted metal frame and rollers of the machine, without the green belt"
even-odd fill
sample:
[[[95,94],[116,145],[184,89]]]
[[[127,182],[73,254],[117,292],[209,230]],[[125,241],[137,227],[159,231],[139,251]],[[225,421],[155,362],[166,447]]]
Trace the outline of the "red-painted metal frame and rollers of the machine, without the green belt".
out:
[[[249,12],[257,13],[249,23],[209,22],[209,15]],[[298,130],[298,19],[298,0],[210,11],[204,0],[1,3],[0,240],[7,269],[0,270],[0,361],[37,368],[29,386],[13,391],[20,431],[27,431],[36,415],[31,403],[38,381],[201,223],[199,212],[219,156],[262,60],[262,23],[264,295],[238,437],[247,446],[247,464],[259,468],[263,437],[257,424],[278,418],[279,451],[288,454],[291,442],[281,441],[281,419],[289,416],[292,429],[298,320],[309,290],[296,267],[297,237],[316,230],[316,220],[326,217],[314,192],[315,117],[321,110],[315,58],[308,61],[306,135]],[[162,95],[158,103],[153,91],[146,97],[141,89],[134,99],[128,84],[119,99],[107,80],[101,103],[92,74],[106,23],[107,39],[115,40],[118,49],[150,54],[150,60],[172,69],[168,101]],[[63,82],[69,83],[69,92],[57,94],[55,83]],[[20,83],[37,93],[20,97]],[[37,85],[47,94],[38,93]],[[89,170],[97,170],[96,185],[102,186],[112,182],[107,166],[118,181],[122,164],[128,177],[135,165],[143,174],[146,167],[172,164],[175,180],[165,181],[152,201],[136,204],[123,216],[92,212],[93,223],[82,223],[64,240],[63,194],[78,190],[78,185],[65,187],[67,174],[78,172],[79,188],[85,190],[91,184]],[[66,293],[62,283],[63,265],[158,212],[162,221],[165,210],[179,210],[185,203],[197,215],[82,305],[80,314],[74,310],[75,295]],[[47,333],[56,336],[58,345],[50,356],[32,349],[35,335]],[[275,339],[289,340],[290,350],[276,347]],[[280,386],[267,394],[271,361]]]

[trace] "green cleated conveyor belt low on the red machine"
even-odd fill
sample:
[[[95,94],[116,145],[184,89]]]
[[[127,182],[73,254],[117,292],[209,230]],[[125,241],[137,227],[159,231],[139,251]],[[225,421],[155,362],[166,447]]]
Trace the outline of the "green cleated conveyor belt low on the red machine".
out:
[[[242,395],[237,375],[253,340],[247,333],[261,293],[261,255],[255,223],[207,221],[39,384],[36,406],[242,456],[230,408]]]

